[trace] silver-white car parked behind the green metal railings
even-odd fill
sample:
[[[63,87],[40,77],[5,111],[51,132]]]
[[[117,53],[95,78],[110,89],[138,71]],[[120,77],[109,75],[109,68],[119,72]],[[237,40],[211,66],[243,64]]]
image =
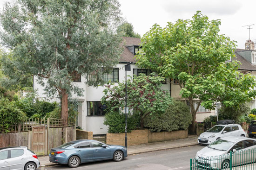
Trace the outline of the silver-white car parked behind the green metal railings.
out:
[[[243,137],[225,137],[218,139],[196,153],[197,167],[207,170],[230,168],[230,152],[232,166],[255,163],[256,139]]]

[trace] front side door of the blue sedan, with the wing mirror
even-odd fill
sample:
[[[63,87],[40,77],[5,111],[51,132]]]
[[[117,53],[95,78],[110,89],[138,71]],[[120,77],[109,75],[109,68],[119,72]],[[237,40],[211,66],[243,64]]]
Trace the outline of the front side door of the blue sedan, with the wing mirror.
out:
[[[94,148],[94,160],[100,159],[109,159],[112,158],[111,149],[109,147],[103,148],[102,145],[105,145],[101,142],[91,142]]]

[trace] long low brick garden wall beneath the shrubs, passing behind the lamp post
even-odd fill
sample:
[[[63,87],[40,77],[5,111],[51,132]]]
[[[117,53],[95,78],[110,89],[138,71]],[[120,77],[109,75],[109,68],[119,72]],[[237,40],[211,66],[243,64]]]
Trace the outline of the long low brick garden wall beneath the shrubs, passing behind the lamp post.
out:
[[[188,130],[172,132],[150,132],[149,130],[135,130],[127,133],[127,145],[140,145],[151,142],[188,138]],[[107,133],[106,144],[125,145],[125,133]]]

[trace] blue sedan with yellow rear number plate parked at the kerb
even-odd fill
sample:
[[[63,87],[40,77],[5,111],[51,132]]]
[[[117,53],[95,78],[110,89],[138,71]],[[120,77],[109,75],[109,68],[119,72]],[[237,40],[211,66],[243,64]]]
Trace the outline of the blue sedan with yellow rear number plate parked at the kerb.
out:
[[[108,159],[118,162],[124,157],[127,157],[124,146],[106,145],[96,140],[75,140],[51,149],[49,161],[76,168],[81,163]]]

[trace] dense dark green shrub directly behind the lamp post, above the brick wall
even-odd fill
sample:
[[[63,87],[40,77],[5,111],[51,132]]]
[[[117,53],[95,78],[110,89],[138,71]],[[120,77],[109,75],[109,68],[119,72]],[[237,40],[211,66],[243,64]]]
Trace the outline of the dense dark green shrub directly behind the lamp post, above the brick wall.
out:
[[[138,113],[127,114],[127,132],[135,130],[139,125],[140,117]],[[125,132],[125,114],[119,112],[109,112],[105,114],[104,125],[108,126],[108,133]]]

